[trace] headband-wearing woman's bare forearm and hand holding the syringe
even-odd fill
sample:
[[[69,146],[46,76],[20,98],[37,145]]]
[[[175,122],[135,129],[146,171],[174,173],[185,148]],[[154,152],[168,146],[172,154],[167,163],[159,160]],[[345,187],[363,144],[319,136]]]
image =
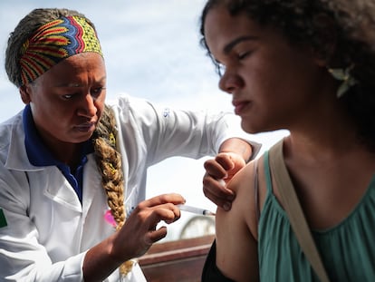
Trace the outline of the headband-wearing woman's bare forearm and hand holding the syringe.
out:
[[[156,226],[161,220],[172,223],[179,219],[176,205],[185,203],[178,194],[165,194],[144,200],[111,237],[91,248],[83,261],[84,281],[102,281],[131,258],[138,258],[167,235],[167,228]]]

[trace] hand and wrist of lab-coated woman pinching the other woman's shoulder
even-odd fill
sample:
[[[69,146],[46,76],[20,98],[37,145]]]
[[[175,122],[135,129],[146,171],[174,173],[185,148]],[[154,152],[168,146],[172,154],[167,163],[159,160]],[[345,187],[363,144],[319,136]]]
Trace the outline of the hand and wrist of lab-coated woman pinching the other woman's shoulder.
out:
[[[236,195],[224,184],[231,180],[238,170],[245,167],[252,153],[252,147],[248,142],[240,138],[230,138],[222,143],[215,159],[205,161],[206,174],[203,177],[203,192],[218,207],[224,210],[231,209]]]

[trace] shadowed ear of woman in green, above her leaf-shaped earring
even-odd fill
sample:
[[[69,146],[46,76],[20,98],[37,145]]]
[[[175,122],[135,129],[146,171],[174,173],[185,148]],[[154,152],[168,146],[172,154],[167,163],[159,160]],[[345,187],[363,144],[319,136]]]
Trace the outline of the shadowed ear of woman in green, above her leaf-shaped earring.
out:
[[[319,47],[312,50],[315,63],[322,67],[331,65],[334,61],[334,53],[337,44],[337,31],[334,20],[329,15],[316,15],[313,19],[315,26],[315,44]]]

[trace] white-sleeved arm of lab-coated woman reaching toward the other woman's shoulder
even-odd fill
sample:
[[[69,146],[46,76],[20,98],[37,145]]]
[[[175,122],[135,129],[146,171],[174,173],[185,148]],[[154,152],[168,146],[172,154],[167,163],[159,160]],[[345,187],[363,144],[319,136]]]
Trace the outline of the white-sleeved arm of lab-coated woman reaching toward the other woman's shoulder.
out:
[[[133,97],[120,100],[119,111],[124,134],[131,124],[152,164],[172,156],[215,155],[223,141],[233,137],[224,112],[182,111]]]

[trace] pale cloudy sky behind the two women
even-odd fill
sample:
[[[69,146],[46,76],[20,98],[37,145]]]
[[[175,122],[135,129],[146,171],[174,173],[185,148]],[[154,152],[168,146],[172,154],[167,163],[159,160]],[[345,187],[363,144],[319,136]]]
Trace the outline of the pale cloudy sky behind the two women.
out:
[[[205,0],[2,0],[0,2],[0,122],[23,109],[5,74],[8,34],[32,9],[78,10],[95,24],[106,60],[108,99],[127,92],[182,109],[230,111],[230,95],[217,88],[215,69],[199,45]],[[235,122],[239,122],[237,119]],[[284,133],[258,134],[264,149]],[[214,209],[204,198],[204,160],[172,158],[149,170],[148,196],[178,191],[187,204]]]

